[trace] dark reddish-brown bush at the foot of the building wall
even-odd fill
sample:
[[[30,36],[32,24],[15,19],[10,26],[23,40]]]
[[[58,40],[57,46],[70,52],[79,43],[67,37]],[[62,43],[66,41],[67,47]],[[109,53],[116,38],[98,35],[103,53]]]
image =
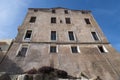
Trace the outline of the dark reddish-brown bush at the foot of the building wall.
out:
[[[43,80],[44,78],[48,78],[48,79],[53,79],[53,78],[74,78],[72,76],[69,76],[68,73],[66,71],[63,70],[59,70],[53,67],[49,67],[49,66],[43,66],[41,68],[39,68],[38,70],[36,70],[35,68],[25,72],[27,74],[39,74],[36,75],[37,77],[41,77]],[[35,79],[36,80],[36,79]]]

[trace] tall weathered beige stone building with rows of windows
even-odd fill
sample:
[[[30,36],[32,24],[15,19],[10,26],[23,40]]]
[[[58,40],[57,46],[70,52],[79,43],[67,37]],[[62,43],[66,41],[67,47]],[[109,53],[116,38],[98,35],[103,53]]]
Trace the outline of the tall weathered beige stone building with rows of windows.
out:
[[[29,8],[0,72],[50,66],[79,77],[120,80],[120,54],[87,10]]]

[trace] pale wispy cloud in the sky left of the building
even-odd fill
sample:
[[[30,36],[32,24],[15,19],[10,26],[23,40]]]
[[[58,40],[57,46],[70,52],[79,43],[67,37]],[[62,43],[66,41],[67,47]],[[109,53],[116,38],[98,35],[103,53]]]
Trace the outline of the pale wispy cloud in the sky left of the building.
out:
[[[7,31],[13,31],[12,28],[17,22],[17,18],[20,16],[22,10],[27,8],[28,4],[29,1],[26,0],[0,1],[0,38],[7,38]]]

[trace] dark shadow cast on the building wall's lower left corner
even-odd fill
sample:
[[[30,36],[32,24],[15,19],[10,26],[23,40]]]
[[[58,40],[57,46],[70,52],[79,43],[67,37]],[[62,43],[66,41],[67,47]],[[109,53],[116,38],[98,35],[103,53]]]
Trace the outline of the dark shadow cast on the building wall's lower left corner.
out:
[[[0,59],[4,57],[3,54],[0,54]],[[0,72],[6,72],[10,74],[20,74],[23,73],[23,70],[14,63],[14,61],[10,60],[8,56],[5,56],[4,60],[0,62]]]

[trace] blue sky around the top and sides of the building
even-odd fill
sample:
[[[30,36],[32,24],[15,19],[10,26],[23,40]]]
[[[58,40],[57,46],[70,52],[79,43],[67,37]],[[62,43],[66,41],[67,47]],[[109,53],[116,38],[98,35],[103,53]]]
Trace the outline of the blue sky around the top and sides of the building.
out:
[[[120,51],[120,0],[0,0],[0,39],[17,35],[28,8],[91,10],[108,41]]]

